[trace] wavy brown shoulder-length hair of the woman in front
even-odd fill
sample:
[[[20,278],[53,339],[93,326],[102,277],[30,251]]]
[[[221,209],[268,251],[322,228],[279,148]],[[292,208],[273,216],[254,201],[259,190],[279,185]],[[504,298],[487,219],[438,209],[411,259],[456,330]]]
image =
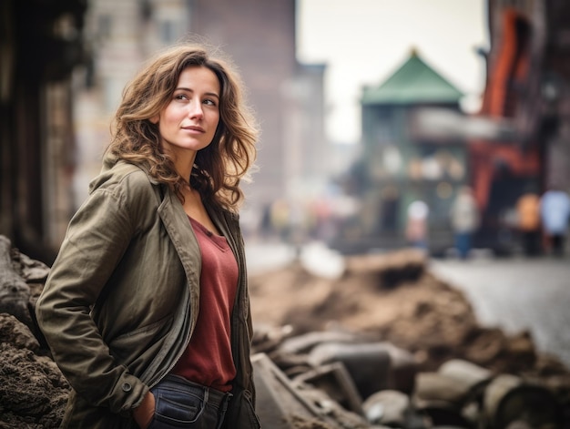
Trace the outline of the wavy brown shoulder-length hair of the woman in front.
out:
[[[210,51],[212,53],[210,53]],[[123,92],[113,121],[107,152],[144,166],[150,175],[168,184],[183,200],[182,189],[198,189],[203,199],[236,210],[243,199],[239,188],[256,158],[259,129],[245,103],[243,85],[232,62],[203,44],[170,47],[140,70]],[[181,177],[173,159],[160,145],[158,125],[150,120],[168,105],[178,77],[189,66],[205,66],[220,85],[219,125],[212,142],[198,151],[190,178]]]

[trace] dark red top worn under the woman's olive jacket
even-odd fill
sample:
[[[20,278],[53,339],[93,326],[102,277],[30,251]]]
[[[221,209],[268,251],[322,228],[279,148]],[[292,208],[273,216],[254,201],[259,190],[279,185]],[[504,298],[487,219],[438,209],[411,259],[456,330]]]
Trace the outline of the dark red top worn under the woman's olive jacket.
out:
[[[188,348],[172,370],[191,382],[222,392],[231,389],[230,316],[238,287],[238,263],[223,236],[189,218],[202,254],[200,310]]]

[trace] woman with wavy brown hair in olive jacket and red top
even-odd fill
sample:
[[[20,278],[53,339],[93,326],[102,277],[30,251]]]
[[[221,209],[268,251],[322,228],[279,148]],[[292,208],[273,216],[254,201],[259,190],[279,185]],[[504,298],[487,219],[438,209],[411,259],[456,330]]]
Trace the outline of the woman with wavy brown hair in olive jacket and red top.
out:
[[[240,88],[202,46],[126,88],[36,306],[72,386],[63,427],[259,427],[237,215],[257,128]]]

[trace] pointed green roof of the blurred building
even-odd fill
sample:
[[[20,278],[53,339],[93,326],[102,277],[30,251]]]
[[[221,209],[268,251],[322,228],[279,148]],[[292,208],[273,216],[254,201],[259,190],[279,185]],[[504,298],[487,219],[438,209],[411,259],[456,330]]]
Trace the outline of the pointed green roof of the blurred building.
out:
[[[364,87],[361,104],[459,103],[463,93],[412,51],[408,60],[379,87]]]

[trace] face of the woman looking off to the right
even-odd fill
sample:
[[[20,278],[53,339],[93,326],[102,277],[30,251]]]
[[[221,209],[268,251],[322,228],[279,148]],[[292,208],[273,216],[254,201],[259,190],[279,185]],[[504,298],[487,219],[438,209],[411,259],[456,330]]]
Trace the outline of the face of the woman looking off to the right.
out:
[[[220,87],[208,67],[189,66],[178,77],[172,98],[151,122],[158,123],[161,145],[177,159],[196,156],[214,138],[219,123]]]

